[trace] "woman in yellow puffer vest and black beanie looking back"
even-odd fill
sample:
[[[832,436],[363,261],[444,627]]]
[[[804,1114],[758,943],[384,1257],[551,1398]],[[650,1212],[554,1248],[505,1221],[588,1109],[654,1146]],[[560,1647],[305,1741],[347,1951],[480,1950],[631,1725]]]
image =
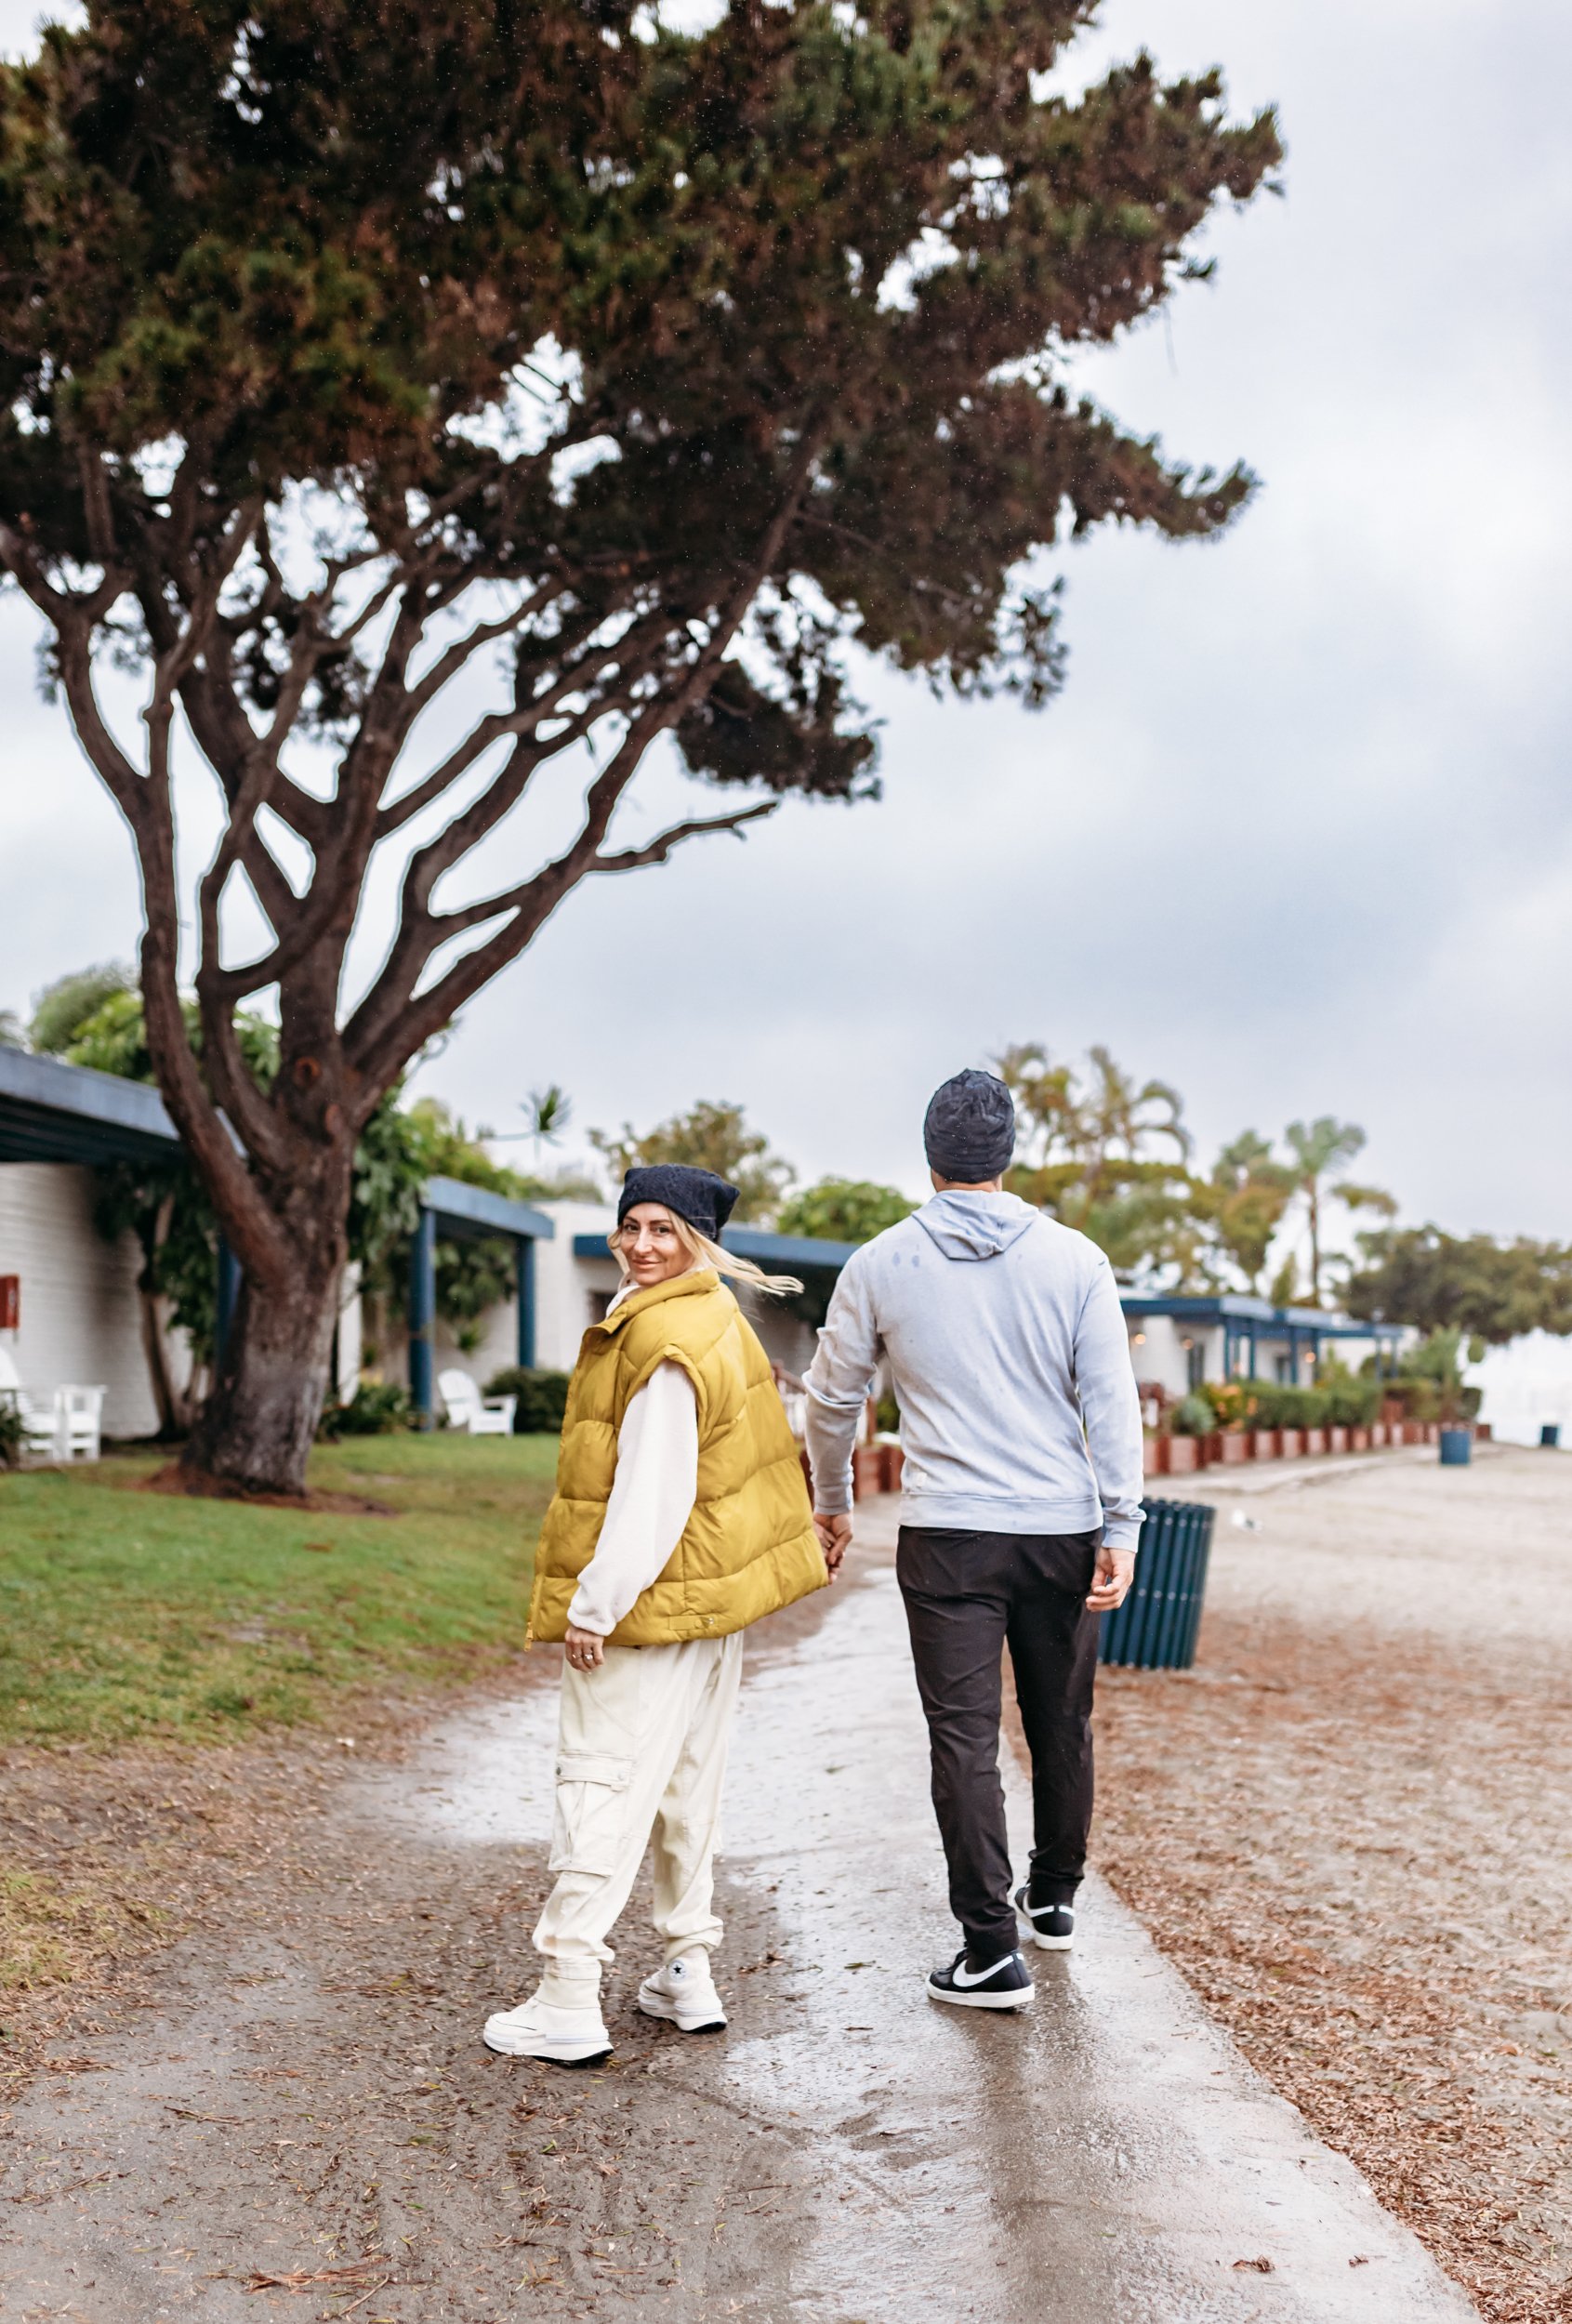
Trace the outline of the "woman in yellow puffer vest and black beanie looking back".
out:
[[[530,1638],[565,1638],[551,1871],[535,1927],[546,1971],[486,2020],[505,2057],[584,2066],[609,2052],[607,1936],[653,1843],[663,1966],[639,2008],[684,2033],[726,2024],[714,1850],[742,1631],[828,1580],[786,1413],[721,1271],[798,1290],[719,1248],[737,1188],[705,1169],[633,1169],[612,1250],[623,1281],[584,1334]]]

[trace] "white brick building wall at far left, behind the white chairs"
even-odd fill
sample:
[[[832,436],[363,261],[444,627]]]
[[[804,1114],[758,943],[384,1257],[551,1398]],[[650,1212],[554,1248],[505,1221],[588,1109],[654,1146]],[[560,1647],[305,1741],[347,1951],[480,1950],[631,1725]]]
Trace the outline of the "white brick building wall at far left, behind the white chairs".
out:
[[[5,1341],[21,1385],[107,1387],[105,1436],[158,1427],[142,1353],[142,1253],[93,1225],[93,1174],[70,1162],[0,1162],[0,1276],[21,1276],[21,1329]]]

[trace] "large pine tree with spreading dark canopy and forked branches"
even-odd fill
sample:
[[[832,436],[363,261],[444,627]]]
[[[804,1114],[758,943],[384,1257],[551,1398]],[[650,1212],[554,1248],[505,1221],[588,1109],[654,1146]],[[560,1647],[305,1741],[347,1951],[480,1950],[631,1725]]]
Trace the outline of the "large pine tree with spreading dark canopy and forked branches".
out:
[[[1091,14],[733,0],[686,37],[633,0],[88,0],[0,77],[0,558],[133,830],[149,1046],[244,1267],[198,1466],[300,1487],[358,1132],[581,878],[867,795],[849,637],[1039,704],[1032,551],[1244,502],[1065,358],[1198,272],[1277,130],[1146,58],[1051,95]],[[109,660],[144,676],[135,748]],[[446,688],[470,727],[423,751]],[[191,904],[200,1055],[177,732],[228,802]],[[623,844],[665,732],[716,811]],[[553,774],[581,799],[560,853],[444,902]],[[346,997],[379,851],[398,927]],[[233,883],[270,925],[251,962]],[[235,1037],[263,995],[270,1088]]]

